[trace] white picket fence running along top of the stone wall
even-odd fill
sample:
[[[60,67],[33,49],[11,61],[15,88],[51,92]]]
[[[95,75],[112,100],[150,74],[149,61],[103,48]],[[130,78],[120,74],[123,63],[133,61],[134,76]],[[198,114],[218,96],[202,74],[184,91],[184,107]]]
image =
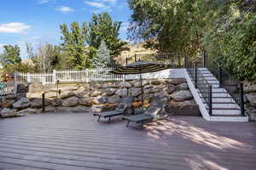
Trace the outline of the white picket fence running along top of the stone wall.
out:
[[[124,81],[123,75],[109,73],[112,68],[86,69],[84,71],[53,71],[52,73],[16,73],[18,83],[42,82],[50,84],[59,82],[104,82],[104,81]]]

